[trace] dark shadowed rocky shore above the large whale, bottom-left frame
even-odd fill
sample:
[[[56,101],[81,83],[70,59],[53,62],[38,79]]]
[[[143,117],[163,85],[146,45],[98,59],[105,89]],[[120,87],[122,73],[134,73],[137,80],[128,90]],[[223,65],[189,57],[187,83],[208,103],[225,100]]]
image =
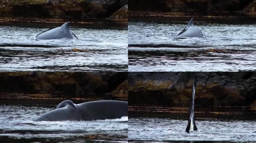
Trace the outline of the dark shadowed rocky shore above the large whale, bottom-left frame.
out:
[[[125,72],[0,72],[0,81],[0,95],[6,97],[55,94],[72,98],[109,95],[126,101],[128,98]]]

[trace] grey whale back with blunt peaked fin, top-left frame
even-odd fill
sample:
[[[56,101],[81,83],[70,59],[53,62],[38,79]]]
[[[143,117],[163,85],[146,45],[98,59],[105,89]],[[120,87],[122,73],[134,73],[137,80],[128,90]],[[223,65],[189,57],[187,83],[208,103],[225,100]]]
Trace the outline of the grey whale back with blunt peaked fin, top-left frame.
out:
[[[70,22],[66,22],[60,27],[43,31],[36,36],[37,40],[49,40],[49,39],[78,39],[76,35],[69,28]]]

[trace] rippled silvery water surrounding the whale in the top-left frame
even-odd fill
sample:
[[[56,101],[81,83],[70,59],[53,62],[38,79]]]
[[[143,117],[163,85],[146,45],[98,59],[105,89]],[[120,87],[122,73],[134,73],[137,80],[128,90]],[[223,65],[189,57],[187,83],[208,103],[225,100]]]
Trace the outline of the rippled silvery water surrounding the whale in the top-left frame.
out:
[[[55,27],[0,25],[0,70],[127,71],[127,27],[71,23],[79,40],[34,40],[37,34]]]

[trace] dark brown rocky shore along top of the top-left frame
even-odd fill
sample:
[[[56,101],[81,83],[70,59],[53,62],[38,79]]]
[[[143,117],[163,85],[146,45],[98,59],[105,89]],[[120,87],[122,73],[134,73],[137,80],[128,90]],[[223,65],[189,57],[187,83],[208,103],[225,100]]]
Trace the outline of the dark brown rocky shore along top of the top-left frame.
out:
[[[128,0],[1,0],[0,17],[128,19]]]

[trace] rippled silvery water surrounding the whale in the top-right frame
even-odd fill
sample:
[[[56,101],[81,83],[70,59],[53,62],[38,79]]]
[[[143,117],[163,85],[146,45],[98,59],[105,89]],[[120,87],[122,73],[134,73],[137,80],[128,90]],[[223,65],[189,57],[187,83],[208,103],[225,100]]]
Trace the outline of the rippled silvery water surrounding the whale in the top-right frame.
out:
[[[255,24],[196,22],[195,18],[194,25],[205,39],[174,38],[189,20],[129,21],[128,71],[256,70]]]

